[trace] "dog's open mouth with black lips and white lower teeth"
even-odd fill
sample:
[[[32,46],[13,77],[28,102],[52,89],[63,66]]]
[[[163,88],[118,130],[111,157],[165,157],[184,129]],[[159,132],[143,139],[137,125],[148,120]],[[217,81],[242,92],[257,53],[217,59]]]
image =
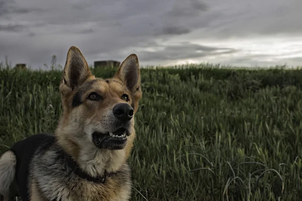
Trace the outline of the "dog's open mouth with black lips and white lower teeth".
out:
[[[93,133],[93,143],[98,148],[107,148],[107,149],[123,149],[127,136],[129,136],[128,131],[125,128],[119,128],[114,132]]]

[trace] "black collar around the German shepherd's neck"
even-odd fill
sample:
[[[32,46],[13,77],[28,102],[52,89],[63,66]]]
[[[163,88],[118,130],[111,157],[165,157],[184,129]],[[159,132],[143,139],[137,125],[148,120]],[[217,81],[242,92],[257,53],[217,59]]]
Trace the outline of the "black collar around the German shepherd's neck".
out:
[[[64,153],[64,158],[66,160],[67,166],[72,169],[73,173],[80,176],[83,179],[87,179],[88,181],[92,181],[95,183],[105,183],[106,178],[109,176],[112,176],[116,173],[108,173],[107,171],[105,171],[104,176],[98,176],[98,177],[92,177],[89,174],[87,174],[86,172],[84,172],[79,165],[77,164],[77,162],[75,162],[66,152]]]

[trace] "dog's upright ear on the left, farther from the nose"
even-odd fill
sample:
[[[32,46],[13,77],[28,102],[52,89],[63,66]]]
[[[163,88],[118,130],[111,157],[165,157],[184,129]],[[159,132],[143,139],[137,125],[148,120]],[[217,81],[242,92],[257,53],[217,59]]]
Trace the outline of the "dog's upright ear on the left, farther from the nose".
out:
[[[79,48],[71,46],[67,53],[63,77],[60,83],[62,94],[71,92],[92,76],[88,63]]]

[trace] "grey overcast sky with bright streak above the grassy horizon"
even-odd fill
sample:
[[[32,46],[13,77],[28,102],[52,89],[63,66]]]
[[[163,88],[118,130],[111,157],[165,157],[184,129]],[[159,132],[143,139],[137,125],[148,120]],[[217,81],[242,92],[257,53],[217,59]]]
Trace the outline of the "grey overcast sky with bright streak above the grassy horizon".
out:
[[[0,0],[0,60],[64,65],[77,46],[89,64],[302,64],[302,0]],[[1,58],[2,57],[2,58]]]

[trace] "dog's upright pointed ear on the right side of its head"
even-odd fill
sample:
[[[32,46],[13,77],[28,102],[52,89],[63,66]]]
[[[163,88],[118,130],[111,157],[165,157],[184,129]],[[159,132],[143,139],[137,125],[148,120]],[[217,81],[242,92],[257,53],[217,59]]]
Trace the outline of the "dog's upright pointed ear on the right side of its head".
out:
[[[123,81],[132,93],[140,89],[139,62],[136,54],[130,54],[121,63],[114,77]]]

